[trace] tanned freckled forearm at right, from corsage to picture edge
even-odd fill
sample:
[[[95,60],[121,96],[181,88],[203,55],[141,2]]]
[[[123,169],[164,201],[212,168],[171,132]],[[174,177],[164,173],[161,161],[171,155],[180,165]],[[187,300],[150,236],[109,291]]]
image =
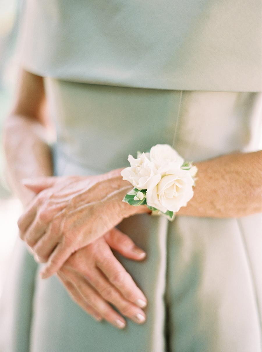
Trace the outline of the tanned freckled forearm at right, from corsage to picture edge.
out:
[[[262,151],[196,163],[194,196],[177,215],[215,218],[262,212]]]

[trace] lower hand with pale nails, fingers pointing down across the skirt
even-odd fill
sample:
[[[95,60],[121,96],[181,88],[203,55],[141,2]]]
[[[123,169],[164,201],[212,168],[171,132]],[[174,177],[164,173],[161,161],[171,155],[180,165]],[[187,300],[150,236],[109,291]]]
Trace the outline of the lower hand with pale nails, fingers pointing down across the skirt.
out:
[[[145,313],[141,308],[146,306],[146,298],[110,247],[130,259],[145,257],[145,252],[127,235],[113,228],[72,254],[57,275],[73,300],[87,313],[98,321],[105,319],[122,329],[126,325],[125,319],[111,304],[127,318],[143,323]]]

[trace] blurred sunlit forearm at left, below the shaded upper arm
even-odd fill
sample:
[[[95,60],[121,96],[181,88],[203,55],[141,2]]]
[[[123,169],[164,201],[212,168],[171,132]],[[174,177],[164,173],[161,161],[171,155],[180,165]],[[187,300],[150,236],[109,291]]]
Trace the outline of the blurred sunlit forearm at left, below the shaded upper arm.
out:
[[[47,132],[46,127],[25,115],[10,114],[5,122],[6,176],[23,205],[32,199],[34,193],[21,184],[21,179],[53,174]]]

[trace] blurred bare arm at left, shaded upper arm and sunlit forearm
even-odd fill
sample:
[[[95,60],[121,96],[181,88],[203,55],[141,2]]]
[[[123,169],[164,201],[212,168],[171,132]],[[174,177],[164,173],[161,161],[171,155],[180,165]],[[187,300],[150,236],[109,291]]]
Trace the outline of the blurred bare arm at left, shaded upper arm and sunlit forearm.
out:
[[[21,70],[16,100],[5,121],[4,148],[8,183],[23,205],[35,193],[21,184],[21,178],[53,174],[47,143],[50,129],[43,78]]]

